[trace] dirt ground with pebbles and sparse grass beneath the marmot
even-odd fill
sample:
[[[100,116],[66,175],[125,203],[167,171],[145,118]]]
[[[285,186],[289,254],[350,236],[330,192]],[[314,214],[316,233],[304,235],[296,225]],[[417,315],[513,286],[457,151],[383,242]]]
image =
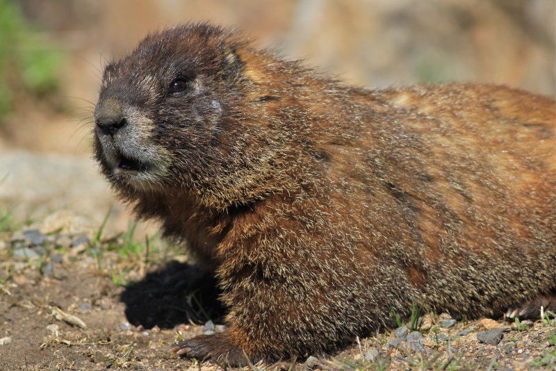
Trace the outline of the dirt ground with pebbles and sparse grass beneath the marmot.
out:
[[[137,241],[133,224],[115,236],[104,236],[101,226],[88,235],[66,226],[43,234],[6,219],[0,223],[0,370],[219,367],[170,352],[183,338],[224,329],[215,281],[185,250],[156,236]],[[478,331],[497,328],[498,345],[477,339]],[[548,313],[517,325],[426,314],[419,332],[407,332],[379,331],[334,354],[247,370],[556,370],[556,318]]]

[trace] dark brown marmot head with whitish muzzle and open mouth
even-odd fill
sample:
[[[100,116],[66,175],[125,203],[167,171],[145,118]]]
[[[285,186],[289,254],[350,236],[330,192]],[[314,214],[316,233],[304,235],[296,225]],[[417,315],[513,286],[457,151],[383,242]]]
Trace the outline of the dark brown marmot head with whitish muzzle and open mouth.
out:
[[[225,207],[269,192],[275,146],[256,123],[265,102],[250,100],[246,45],[222,28],[179,26],[106,66],[95,156],[124,196],[174,188]]]

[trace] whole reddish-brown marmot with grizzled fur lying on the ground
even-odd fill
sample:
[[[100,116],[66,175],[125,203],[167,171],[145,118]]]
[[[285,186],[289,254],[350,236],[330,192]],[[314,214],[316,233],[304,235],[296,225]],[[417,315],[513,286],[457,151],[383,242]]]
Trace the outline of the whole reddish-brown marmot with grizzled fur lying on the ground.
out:
[[[554,310],[555,122],[548,97],[352,88],[188,24],[106,66],[95,154],[218,277],[228,331],[172,350],[238,365],[329,351],[415,302]]]

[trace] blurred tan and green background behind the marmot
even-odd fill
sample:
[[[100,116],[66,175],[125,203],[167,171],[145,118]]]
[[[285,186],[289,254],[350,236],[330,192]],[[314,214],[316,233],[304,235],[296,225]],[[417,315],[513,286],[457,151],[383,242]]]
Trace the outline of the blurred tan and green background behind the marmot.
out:
[[[556,96],[555,0],[0,0],[0,220],[67,211],[126,225],[90,160],[106,60],[182,22],[241,28],[261,47],[354,85],[503,83]]]

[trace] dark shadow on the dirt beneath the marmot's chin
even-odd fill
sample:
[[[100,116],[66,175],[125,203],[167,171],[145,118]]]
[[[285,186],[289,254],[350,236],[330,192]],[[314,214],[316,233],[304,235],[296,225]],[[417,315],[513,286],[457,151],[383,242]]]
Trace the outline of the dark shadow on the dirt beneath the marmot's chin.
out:
[[[171,261],[141,281],[129,284],[120,300],[127,320],[145,329],[171,329],[177,324],[222,323],[225,311],[211,272],[198,265]]]

